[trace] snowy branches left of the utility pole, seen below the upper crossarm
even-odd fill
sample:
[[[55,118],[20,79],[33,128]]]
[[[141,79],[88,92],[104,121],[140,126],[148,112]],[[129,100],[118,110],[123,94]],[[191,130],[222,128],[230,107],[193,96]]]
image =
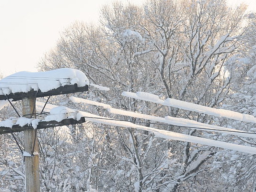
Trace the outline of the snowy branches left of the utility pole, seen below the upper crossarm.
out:
[[[18,108],[20,104],[17,102],[14,105]],[[15,116],[17,114],[10,105],[0,111],[1,121]],[[23,133],[13,135],[22,147]],[[0,190],[4,192],[24,191],[25,186],[23,156],[14,137],[11,134],[0,135]]]

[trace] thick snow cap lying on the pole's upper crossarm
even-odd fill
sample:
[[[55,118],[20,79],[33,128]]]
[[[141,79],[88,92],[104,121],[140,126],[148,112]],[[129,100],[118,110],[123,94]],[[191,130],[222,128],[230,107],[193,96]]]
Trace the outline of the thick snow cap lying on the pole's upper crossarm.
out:
[[[21,71],[0,80],[0,95],[31,90],[47,92],[64,85],[89,85],[86,75],[77,69],[62,68],[44,72]]]

